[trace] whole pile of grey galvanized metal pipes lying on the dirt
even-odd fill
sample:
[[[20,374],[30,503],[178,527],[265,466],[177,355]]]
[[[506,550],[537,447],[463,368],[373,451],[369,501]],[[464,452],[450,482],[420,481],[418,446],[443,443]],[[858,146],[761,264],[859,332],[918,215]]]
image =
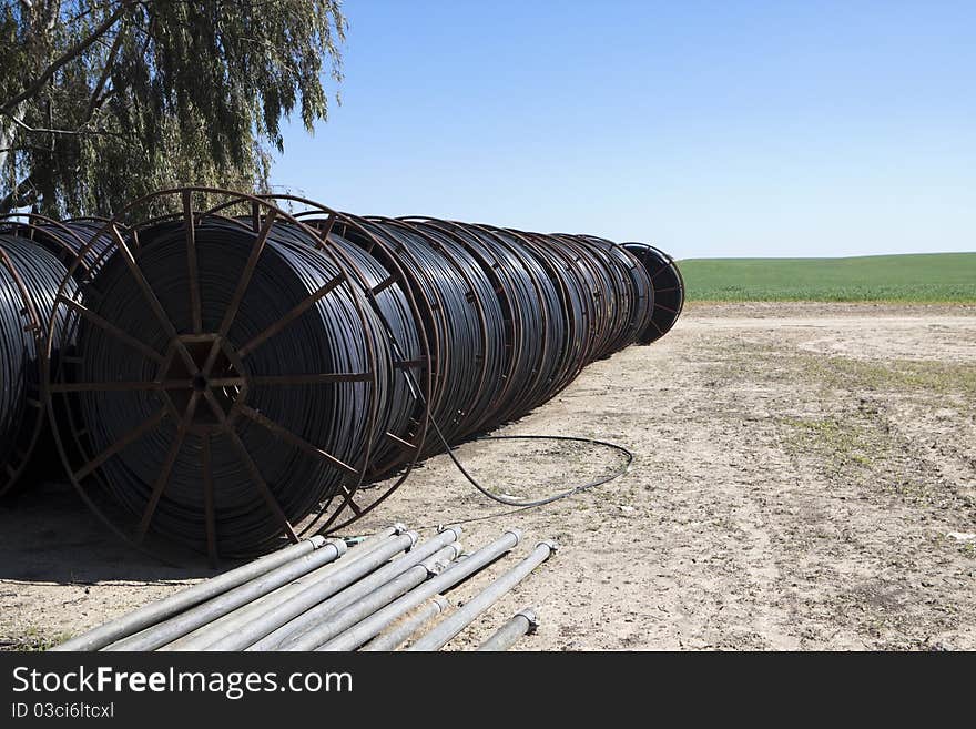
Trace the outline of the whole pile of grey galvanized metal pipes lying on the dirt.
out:
[[[395,650],[411,638],[411,650],[439,650],[553,549],[552,543],[540,543],[451,610],[445,593],[520,541],[519,531],[510,529],[465,555],[460,534],[460,527],[450,526],[420,539],[394,525],[348,548],[344,540],[312,537],[110,620],[53,650]],[[441,616],[446,617],[437,621]],[[434,627],[417,637],[431,622]],[[509,628],[505,648],[527,631],[512,638]]]

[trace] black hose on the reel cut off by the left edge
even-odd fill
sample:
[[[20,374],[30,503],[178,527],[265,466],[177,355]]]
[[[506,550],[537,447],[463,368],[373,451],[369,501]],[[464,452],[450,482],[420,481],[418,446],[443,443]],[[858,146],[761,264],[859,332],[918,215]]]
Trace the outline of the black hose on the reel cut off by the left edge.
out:
[[[43,323],[67,270],[33,241],[0,234],[0,494],[9,492],[37,446],[43,423]],[[57,369],[62,341],[53,342]]]

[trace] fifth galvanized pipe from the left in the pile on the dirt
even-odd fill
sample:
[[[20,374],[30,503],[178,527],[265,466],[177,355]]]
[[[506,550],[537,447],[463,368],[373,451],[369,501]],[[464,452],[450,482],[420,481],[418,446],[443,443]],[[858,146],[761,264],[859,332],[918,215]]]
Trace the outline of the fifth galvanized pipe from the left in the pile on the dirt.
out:
[[[419,565],[428,557],[436,555],[449,544],[456,543],[460,535],[460,527],[446,527],[433,539],[428,539],[421,545],[414,547],[399,559],[395,559],[388,565],[384,565],[372,575],[364,577],[343,591],[296,616],[281,628],[270,632],[252,645],[248,650],[275,650],[288,642],[292,638],[311,630],[316,624],[321,624],[328,616],[363,600],[374,590],[379,589],[390,580],[399,577],[411,567]]]

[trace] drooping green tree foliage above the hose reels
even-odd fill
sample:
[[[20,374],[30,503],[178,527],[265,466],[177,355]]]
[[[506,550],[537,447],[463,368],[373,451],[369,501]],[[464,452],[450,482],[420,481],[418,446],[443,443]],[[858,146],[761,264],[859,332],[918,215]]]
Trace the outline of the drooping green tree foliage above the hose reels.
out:
[[[106,214],[180,183],[266,186],[325,119],[340,0],[0,0],[0,212]]]

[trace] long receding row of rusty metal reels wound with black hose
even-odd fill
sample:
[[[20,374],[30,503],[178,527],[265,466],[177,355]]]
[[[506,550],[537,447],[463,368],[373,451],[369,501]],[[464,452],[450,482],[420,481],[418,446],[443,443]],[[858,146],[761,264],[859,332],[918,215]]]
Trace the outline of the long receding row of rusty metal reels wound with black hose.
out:
[[[349,524],[658,311],[603,239],[292,198],[164,191],[40,239],[71,254],[39,321],[48,356],[70,343],[45,392],[72,483],[129,541],[213,560]]]

